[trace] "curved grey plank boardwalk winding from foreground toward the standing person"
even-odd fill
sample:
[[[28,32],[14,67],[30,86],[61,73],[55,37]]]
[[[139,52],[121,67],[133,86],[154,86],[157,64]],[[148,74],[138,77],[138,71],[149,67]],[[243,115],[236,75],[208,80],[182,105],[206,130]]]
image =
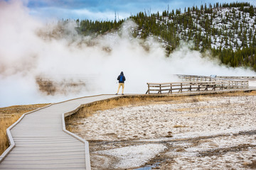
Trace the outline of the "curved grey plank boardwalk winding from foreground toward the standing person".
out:
[[[90,169],[87,143],[64,132],[63,113],[114,96],[77,98],[26,114],[10,130],[15,147],[6,153],[0,169]],[[85,161],[85,155],[89,160]]]

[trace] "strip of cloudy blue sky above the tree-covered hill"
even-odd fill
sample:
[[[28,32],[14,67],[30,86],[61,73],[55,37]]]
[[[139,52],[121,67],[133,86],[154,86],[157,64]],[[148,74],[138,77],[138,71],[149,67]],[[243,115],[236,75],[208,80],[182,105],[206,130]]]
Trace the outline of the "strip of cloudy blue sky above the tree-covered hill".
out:
[[[3,1],[3,0],[0,0]],[[17,1],[17,0],[4,0]],[[201,4],[230,3],[233,0],[18,0],[27,6],[30,14],[44,20],[51,19],[90,19],[112,21],[136,15],[140,11],[176,10]],[[235,0],[240,2],[240,0]],[[256,6],[255,0],[247,0]]]

